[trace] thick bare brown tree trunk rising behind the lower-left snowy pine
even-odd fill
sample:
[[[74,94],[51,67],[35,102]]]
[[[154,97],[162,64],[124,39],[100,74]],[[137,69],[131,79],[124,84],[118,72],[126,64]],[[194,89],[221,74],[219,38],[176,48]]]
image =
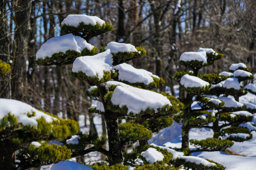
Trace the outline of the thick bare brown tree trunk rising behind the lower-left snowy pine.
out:
[[[22,100],[26,88],[27,42],[30,34],[30,0],[15,0],[15,50],[11,71],[12,98]]]

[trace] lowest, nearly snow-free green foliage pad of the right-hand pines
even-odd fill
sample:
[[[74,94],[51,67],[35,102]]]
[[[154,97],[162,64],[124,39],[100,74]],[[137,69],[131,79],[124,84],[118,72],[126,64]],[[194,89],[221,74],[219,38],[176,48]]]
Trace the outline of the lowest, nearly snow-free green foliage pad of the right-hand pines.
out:
[[[192,152],[201,152],[201,151],[224,151],[225,149],[231,147],[234,143],[227,139],[217,139],[217,138],[208,138],[204,140],[189,140],[189,142],[195,146],[197,149],[192,150]]]

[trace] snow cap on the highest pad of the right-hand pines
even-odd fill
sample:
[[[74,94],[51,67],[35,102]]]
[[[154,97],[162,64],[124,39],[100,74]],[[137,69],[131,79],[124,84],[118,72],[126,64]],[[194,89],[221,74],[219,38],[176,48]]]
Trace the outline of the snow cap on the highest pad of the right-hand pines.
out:
[[[205,51],[200,52],[184,52],[181,57],[180,61],[192,61],[192,60],[198,60],[202,61],[203,64],[207,63],[207,56]]]

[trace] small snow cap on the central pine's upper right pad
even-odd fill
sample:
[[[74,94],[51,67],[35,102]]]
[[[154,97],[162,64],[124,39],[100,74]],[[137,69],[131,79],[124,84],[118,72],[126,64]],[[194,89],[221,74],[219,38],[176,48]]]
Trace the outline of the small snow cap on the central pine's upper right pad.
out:
[[[118,52],[137,52],[134,45],[129,43],[109,42],[105,50],[110,49],[111,53]]]

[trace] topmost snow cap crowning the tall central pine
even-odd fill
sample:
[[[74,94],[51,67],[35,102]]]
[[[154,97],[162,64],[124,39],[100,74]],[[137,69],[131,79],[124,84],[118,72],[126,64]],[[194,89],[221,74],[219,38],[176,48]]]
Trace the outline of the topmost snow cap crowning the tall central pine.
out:
[[[61,26],[66,24],[67,26],[79,26],[79,23],[83,22],[85,25],[91,24],[92,26],[95,26],[96,23],[100,24],[102,26],[105,21],[103,21],[101,18],[96,16],[87,16],[87,15],[68,15],[61,23]]]

